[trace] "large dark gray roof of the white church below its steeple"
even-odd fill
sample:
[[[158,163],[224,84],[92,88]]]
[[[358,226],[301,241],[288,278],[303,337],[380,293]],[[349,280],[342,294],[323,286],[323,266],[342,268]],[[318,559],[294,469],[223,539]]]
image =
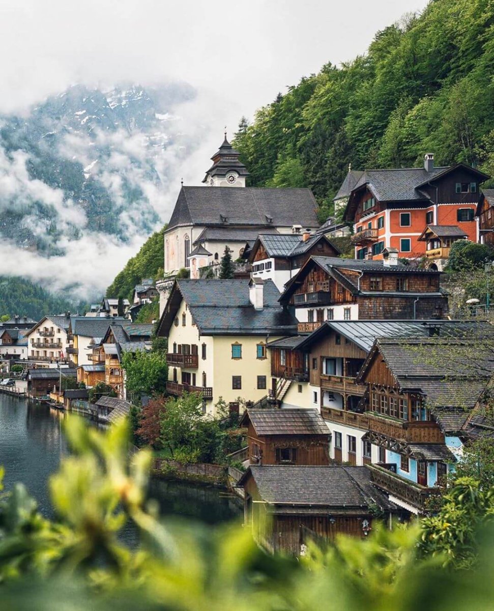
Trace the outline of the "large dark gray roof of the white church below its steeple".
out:
[[[319,227],[318,205],[310,189],[186,187],[178,194],[167,231],[180,225]],[[226,218],[226,223],[223,223]],[[166,235],[166,232],[165,232]]]

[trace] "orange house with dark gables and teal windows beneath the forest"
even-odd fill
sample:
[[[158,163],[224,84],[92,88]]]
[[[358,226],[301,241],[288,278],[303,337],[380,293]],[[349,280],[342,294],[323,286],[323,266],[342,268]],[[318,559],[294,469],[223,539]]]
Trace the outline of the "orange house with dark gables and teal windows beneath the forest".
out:
[[[354,222],[355,258],[382,259],[385,248],[397,249],[399,257],[424,257],[427,242],[420,237],[429,225],[456,227],[456,233],[479,241],[476,208],[487,178],[463,163],[434,167],[432,153],[424,167],[365,170],[343,217]]]

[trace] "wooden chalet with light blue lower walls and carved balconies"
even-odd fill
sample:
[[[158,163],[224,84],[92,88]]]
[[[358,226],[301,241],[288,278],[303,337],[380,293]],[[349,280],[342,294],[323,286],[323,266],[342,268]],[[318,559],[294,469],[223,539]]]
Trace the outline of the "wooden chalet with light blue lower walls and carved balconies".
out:
[[[412,510],[423,510],[456,463],[454,430],[492,376],[494,356],[485,342],[493,332],[484,326],[478,339],[473,335],[376,340],[357,375],[368,386],[365,413],[348,423],[367,431],[361,439],[371,446],[373,481]]]

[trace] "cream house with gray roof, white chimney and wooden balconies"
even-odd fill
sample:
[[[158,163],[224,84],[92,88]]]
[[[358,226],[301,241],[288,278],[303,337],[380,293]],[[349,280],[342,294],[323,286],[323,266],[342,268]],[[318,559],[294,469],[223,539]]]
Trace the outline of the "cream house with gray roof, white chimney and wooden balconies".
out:
[[[266,397],[267,342],[297,331],[279,297],[272,280],[176,280],[158,330],[168,338],[168,392],[201,393],[208,414],[220,398],[238,409],[239,399]]]

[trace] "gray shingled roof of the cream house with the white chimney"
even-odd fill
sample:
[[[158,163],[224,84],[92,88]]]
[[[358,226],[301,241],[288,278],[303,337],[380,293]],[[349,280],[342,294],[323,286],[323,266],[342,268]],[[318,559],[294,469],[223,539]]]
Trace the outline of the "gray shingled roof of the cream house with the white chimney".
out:
[[[159,322],[158,334],[168,335],[182,299],[201,335],[292,335],[297,320],[278,303],[272,280],[264,282],[264,304],[255,310],[249,299],[250,279],[176,280]]]

